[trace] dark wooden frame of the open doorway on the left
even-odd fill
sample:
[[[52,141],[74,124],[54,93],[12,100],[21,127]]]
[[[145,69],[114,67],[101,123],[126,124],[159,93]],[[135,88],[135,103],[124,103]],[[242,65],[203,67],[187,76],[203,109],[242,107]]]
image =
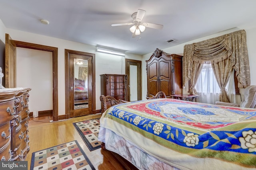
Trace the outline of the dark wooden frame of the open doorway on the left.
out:
[[[8,34],[7,34],[8,35]],[[9,35],[8,35],[9,36]],[[58,48],[50,47],[46,45],[39,45],[34,43],[27,43],[23,41],[11,40],[12,43],[16,45],[16,47],[27,48],[27,49],[35,49],[41,51],[49,51],[52,53],[52,116],[53,121],[58,121]],[[16,60],[15,60],[16,62]],[[5,63],[9,67],[9,63]],[[16,66],[16,63],[15,63]],[[16,68],[15,68],[16,70]],[[9,75],[5,74],[6,79],[8,80]],[[16,73],[15,73],[16,76]],[[15,77],[16,80],[16,77]],[[7,82],[8,83],[8,82]],[[8,87],[8,86],[7,86]]]

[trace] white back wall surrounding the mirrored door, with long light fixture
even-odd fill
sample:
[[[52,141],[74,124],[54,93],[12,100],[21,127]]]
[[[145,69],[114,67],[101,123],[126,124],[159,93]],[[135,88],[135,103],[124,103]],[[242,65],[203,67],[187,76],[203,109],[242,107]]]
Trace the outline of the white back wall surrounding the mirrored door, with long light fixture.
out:
[[[2,28],[1,28],[2,27]],[[6,29],[0,22],[0,38],[5,42],[5,33],[12,39],[58,48],[58,115],[65,114],[65,49],[95,54],[96,110],[100,109],[100,74],[125,74],[125,59],[142,59],[141,55],[127,53],[125,57],[96,52],[96,47],[54,37]]]

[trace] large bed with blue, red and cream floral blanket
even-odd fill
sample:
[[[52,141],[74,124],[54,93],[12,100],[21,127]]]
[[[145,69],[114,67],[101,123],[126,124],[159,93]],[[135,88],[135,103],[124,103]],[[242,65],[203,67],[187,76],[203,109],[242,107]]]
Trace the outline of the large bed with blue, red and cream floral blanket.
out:
[[[169,98],[121,102],[102,114],[98,141],[138,169],[255,169],[256,109]]]

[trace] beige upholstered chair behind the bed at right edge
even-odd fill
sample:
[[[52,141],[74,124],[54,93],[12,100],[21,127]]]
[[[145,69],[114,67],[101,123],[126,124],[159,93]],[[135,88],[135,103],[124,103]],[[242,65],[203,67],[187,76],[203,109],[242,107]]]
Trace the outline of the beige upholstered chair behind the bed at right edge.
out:
[[[256,108],[256,85],[248,86],[244,90],[244,99],[239,104],[227,102],[215,102],[216,105]]]

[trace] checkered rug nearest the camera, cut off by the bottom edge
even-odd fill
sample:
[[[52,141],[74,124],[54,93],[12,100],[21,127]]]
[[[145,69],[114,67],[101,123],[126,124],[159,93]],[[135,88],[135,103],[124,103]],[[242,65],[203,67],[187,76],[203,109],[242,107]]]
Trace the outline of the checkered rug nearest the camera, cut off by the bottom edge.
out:
[[[32,153],[30,170],[95,170],[77,141]]]

